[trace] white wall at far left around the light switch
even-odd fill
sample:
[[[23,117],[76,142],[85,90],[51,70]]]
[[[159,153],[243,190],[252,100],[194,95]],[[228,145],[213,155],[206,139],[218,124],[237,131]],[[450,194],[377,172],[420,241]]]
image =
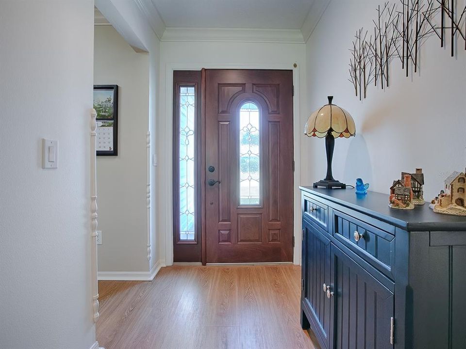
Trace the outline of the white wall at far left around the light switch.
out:
[[[95,343],[90,267],[94,1],[0,1],[0,347]],[[58,169],[41,168],[41,139]]]

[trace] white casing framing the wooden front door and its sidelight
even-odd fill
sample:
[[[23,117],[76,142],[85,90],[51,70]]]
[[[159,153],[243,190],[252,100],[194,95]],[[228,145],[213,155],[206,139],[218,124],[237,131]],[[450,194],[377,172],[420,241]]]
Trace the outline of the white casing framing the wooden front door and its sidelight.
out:
[[[295,67],[294,64],[297,66]],[[270,69],[270,70],[293,70],[293,157],[295,160],[295,171],[293,174],[293,235],[295,246],[293,249],[293,263],[300,264],[301,261],[301,199],[300,199],[300,63],[264,63],[264,64],[212,64],[212,63],[167,63],[165,66],[165,127],[163,127],[164,154],[164,177],[165,188],[163,212],[165,220],[165,232],[160,241],[165,246],[165,265],[173,264],[173,71],[174,70],[201,70],[205,69]]]

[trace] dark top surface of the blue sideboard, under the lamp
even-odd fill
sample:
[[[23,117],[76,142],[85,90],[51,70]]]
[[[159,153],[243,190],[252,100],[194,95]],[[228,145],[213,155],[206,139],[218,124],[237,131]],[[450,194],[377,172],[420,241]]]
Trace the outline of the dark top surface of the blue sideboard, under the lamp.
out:
[[[388,195],[375,191],[368,191],[367,195],[356,195],[352,188],[323,189],[304,186],[300,187],[300,190],[310,192],[408,231],[466,232],[466,216],[435,213],[429,208],[429,202],[422,206],[416,206],[412,210],[401,210],[390,208],[388,206]]]

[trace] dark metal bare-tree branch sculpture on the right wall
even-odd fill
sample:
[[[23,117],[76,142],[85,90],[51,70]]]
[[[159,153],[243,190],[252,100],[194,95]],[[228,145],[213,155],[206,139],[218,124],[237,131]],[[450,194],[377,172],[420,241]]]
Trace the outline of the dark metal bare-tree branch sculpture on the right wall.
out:
[[[366,98],[371,82],[382,89],[390,83],[390,62],[399,59],[406,77],[409,69],[417,72],[420,47],[430,36],[440,39],[444,47],[450,38],[451,56],[456,45],[465,42],[466,49],[466,4],[457,10],[457,0],[399,0],[379,6],[374,32],[358,30],[350,49],[350,81],[355,95]],[[437,24],[436,20],[440,20]],[[446,32],[448,31],[448,35]],[[369,34],[369,37],[367,35]]]

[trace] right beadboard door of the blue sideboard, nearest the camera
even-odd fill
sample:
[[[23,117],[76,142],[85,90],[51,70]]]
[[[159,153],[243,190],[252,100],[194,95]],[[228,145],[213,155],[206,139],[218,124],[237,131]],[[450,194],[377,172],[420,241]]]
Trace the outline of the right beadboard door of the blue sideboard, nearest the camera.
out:
[[[331,244],[334,312],[331,348],[382,349],[390,344],[393,293]]]

